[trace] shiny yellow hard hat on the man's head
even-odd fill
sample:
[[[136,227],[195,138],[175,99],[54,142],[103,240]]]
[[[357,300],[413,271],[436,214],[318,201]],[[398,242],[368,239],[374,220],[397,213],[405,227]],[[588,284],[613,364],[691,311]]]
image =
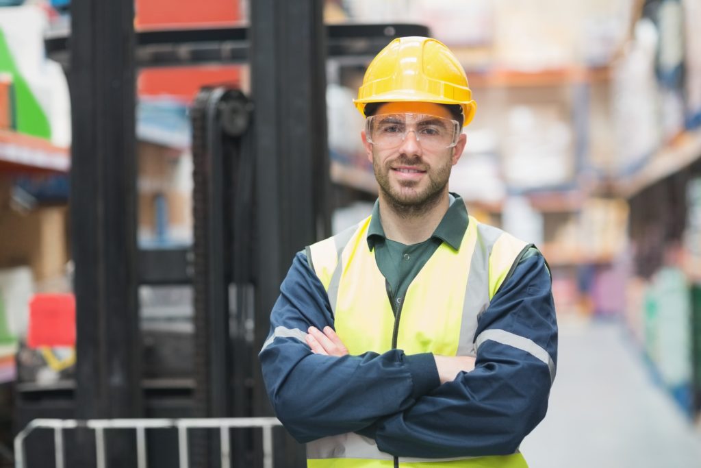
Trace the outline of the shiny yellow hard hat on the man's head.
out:
[[[368,102],[422,101],[460,105],[463,126],[475,116],[468,77],[445,44],[429,37],[399,37],[370,62],[355,107]]]

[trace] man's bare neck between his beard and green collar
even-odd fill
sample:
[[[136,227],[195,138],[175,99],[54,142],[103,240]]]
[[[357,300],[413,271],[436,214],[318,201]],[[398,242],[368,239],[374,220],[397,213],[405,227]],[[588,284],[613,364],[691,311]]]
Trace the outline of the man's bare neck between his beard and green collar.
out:
[[[382,229],[387,239],[410,246],[429,239],[447,212],[448,192],[433,207],[422,213],[397,212],[397,208],[379,197]]]

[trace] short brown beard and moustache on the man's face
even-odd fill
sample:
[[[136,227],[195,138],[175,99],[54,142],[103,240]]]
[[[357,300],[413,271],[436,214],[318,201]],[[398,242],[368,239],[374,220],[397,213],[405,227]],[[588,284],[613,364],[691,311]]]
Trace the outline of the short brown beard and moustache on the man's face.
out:
[[[422,171],[426,171],[428,185],[421,187],[421,181],[402,180],[393,182],[390,180],[390,173],[393,163],[406,166],[415,166]],[[380,187],[383,198],[389,208],[402,218],[414,218],[427,213],[435,207],[445,192],[451,172],[451,159],[447,158],[443,163],[435,168],[423,163],[420,156],[409,158],[400,155],[396,159],[386,160],[379,163],[379,158],[374,157],[372,168],[375,178]]]

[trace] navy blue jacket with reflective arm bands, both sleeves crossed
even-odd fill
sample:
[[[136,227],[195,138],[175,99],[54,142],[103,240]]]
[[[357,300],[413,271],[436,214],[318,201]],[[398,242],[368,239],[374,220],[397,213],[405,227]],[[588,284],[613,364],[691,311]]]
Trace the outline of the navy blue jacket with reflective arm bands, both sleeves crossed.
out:
[[[313,354],[306,330],[333,326],[334,318],[306,255],[297,253],[259,354],[275,414],[302,443],[358,432],[401,457],[514,453],[545,417],[554,378],[557,323],[550,286],[541,255],[521,260],[479,316],[475,334],[506,330],[531,340],[539,353],[486,340],[475,370],[440,385],[430,353]]]

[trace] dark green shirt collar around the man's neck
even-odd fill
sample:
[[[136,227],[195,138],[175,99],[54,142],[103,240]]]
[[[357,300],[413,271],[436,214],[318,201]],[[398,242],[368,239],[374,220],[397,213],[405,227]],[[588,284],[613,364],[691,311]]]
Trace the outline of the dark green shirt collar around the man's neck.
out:
[[[454,250],[459,250],[460,244],[463,242],[463,236],[465,236],[465,230],[468,229],[468,210],[465,208],[465,202],[463,202],[460,195],[452,192],[450,195],[450,206],[433,234],[431,234],[431,237],[440,239],[440,241],[447,243]],[[378,199],[375,201],[374,208],[372,208],[372,218],[367,228],[367,247],[372,250],[379,241],[384,241],[385,239],[387,237],[380,220],[380,201]]]

